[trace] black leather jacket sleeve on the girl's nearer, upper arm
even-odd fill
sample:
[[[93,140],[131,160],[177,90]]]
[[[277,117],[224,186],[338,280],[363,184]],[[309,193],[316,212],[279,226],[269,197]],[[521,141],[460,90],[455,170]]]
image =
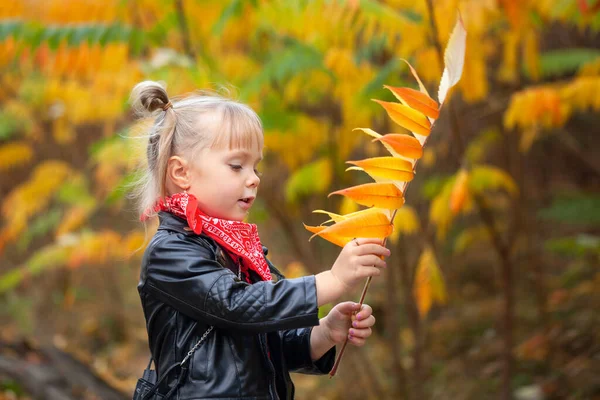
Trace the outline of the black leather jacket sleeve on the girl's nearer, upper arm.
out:
[[[223,329],[256,333],[318,325],[314,276],[251,285],[218,263],[201,238],[184,236],[170,233],[151,243],[141,291]]]

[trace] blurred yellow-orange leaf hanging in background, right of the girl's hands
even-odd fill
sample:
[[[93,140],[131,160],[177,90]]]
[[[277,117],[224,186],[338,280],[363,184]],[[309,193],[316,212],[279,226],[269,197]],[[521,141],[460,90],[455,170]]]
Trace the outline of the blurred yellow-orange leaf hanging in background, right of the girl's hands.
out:
[[[446,302],[446,285],[442,272],[431,248],[427,247],[417,265],[415,273],[414,296],[421,317],[427,315],[433,302]]]

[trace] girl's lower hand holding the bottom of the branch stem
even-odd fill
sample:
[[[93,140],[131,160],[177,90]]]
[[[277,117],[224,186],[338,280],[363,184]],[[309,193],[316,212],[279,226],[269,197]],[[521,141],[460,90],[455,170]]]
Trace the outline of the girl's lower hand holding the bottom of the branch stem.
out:
[[[358,311],[356,315],[354,313]],[[339,303],[321,320],[323,334],[333,344],[344,343],[346,338],[355,346],[363,346],[371,336],[371,327],[375,325],[373,309],[363,304],[359,311],[357,303],[347,301]]]

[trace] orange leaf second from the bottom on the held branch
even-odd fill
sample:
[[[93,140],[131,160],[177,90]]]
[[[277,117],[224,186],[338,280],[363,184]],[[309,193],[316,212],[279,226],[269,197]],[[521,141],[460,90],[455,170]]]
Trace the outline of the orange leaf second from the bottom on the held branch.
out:
[[[395,210],[402,207],[404,197],[402,192],[393,183],[366,183],[364,185],[352,186],[347,189],[330,193],[347,196],[367,207],[380,207]]]

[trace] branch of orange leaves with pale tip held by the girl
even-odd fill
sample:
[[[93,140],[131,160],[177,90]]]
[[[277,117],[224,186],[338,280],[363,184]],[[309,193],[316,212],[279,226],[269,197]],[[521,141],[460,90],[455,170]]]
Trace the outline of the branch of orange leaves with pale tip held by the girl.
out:
[[[330,219],[320,226],[305,225],[307,230],[314,233],[311,239],[320,236],[338,246],[344,246],[356,237],[381,238],[385,242],[387,237],[392,234],[394,230],[393,221],[398,209],[404,205],[406,190],[414,178],[418,160],[423,154],[423,148],[427,143],[431,129],[439,117],[440,109],[446,100],[448,91],[458,83],[462,75],[465,43],[466,30],[459,15],[444,55],[445,68],[438,91],[439,103],[431,98],[417,72],[408,61],[405,62],[418,82],[419,90],[385,86],[392,92],[398,102],[374,101],[386,110],[388,116],[396,124],[411,131],[412,136],[399,133],[381,135],[368,128],[357,128],[372,136],[373,141],[381,142],[391,156],[348,161],[352,166],[347,170],[363,171],[373,178],[375,183],[338,190],[331,193],[330,196],[333,194],[343,195],[368,208],[346,215],[316,210],[317,213],[328,215]],[[332,224],[327,225],[331,222]],[[436,276],[440,277],[437,263],[435,261],[427,262],[431,257],[433,257],[431,250],[425,249],[422,257],[424,261],[419,264],[429,267],[418,269],[417,284],[426,283],[427,280],[432,285],[439,282],[440,279],[435,279]],[[432,270],[431,266],[435,268]],[[369,277],[360,297],[359,303],[361,305],[370,283],[371,278]],[[438,290],[435,293],[438,292],[439,294],[434,299],[444,301],[445,292],[442,289],[442,291]],[[431,301],[422,301],[419,304],[419,310],[423,314],[428,311]],[[331,377],[335,376],[337,372],[347,343],[346,340],[338,354],[335,365],[330,372]]]

